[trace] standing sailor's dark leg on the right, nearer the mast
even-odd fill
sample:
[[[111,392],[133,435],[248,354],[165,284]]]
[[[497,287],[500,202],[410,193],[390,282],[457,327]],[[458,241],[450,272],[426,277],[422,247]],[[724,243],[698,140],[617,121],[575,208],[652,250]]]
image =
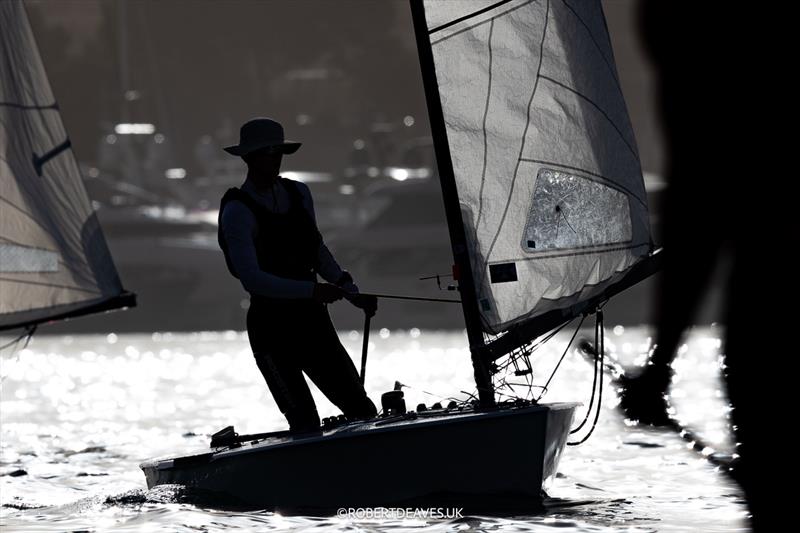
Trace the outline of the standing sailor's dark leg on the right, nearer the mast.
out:
[[[308,377],[349,419],[378,414],[364,391],[353,360],[339,341],[327,311],[315,317],[316,334],[311,338],[304,365]]]

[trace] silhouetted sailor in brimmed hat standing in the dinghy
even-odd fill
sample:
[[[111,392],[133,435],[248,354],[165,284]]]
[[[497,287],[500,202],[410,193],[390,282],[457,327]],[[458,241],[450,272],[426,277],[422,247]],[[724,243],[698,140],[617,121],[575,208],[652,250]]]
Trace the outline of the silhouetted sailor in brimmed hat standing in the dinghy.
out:
[[[247,177],[223,196],[218,235],[228,269],[250,293],[256,364],[292,432],[320,427],[303,373],[348,419],[377,414],[326,308],[346,298],[371,316],[376,300],[359,295],[325,246],[308,186],[279,175],[283,155],[300,144],[269,118],[242,126],[239,144],[225,151],[244,160]]]

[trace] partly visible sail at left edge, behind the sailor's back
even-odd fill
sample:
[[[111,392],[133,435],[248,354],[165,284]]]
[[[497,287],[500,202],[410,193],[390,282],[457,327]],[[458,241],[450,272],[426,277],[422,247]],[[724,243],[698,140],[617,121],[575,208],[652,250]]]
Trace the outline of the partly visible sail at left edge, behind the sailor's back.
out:
[[[0,329],[135,305],[70,149],[22,2],[0,2]]]

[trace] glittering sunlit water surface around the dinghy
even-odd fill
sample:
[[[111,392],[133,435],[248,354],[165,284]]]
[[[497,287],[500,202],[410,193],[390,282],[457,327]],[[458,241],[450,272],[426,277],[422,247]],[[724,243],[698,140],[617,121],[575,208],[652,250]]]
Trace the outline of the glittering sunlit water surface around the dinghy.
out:
[[[714,448],[730,451],[728,404],[719,377],[721,333],[692,332],[675,364],[672,396],[683,422]],[[360,333],[340,335],[358,363]],[[626,364],[641,363],[651,348],[649,335],[647,328],[609,328],[606,347]],[[569,337],[562,334],[537,352],[537,384],[547,380]],[[395,381],[408,386],[406,402],[412,407],[474,391],[463,332],[373,331],[370,345],[367,391],[376,403]],[[560,473],[548,487],[548,512],[347,520],[224,512],[183,503],[176,487],[146,490],[138,467],[145,459],[206,448],[209,434],[231,424],[239,433],[284,428],[244,333],[41,335],[24,350],[0,355],[4,530],[744,530],[738,487],[674,433],[626,423],[608,385],[594,434],[563,455]],[[570,350],[545,400],[588,405],[591,379],[591,367]],[[313,392],[320,416],[337,414]],[[446,460],[446,450],[439,453]],[[498,475],[514,468],[514,457],[487,460],[497,464]]]

